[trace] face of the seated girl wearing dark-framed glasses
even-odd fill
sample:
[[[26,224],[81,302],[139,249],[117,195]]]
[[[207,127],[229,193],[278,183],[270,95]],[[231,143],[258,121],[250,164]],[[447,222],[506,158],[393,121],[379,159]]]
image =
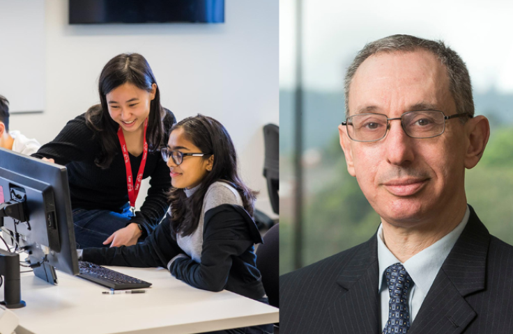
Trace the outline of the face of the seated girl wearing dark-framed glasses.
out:
[[[183,128],[181,127],[171,132],[169,141],[167,142],[167,148],[169,148],[169,150],[182,153],[208,153],[201,152],[196,145],[185,138],[183,133]],[[204,159],[204,157],[185,156],[183,157],[182,163],[177,166],[173,159],[169,158],[167,166],[171,172],[171,185],[174,186],[174,188],[180,189],[194,188],[194,186],[200,184],[207,173],[212,170],[213,161],[213,155],[207,159]]]

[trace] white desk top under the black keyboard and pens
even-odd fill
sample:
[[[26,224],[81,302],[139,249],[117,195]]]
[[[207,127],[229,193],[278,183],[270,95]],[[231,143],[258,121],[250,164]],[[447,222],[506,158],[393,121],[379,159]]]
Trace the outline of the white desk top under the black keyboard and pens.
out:
[[[57,271],[59,285],[22,273],[25,308],[16,333],[201,333],[278,322],[278,310],[231,292],[207,292],[162,268],[109,267],[153,283],[146,294],[102,294],[107,288]],[[3,287],[0,289],[3,300]]]

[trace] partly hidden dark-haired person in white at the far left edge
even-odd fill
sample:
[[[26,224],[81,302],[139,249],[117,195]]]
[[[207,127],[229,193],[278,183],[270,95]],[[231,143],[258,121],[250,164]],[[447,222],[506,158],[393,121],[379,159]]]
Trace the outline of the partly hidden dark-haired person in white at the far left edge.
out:
[[[26,155],[36,153],[41,144],[17,130],[10,130],[9,116],[9,101],[0,95],[0,148]]]

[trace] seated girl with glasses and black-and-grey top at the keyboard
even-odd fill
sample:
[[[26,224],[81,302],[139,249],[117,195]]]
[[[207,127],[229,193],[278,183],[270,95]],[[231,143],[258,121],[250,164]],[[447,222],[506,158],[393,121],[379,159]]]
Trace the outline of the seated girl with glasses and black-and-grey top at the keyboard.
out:
[[[261,243],[252,220],[256,193],[238,176],[227,130],[213,118],[185,118],[161,152],[171,175],[167,219],[144,243],[85,248],[79,256],[110,266],[165,267],[193,287],[267,303],[255,266],[254,244]],[[272,332],[270,324],[215,333]]]

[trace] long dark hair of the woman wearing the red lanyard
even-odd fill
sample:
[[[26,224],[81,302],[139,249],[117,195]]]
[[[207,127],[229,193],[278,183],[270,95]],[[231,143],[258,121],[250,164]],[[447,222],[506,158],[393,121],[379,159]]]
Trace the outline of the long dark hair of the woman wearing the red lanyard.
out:
[[[152,90],[153,84],[157,84],[150,65],[140,54],[119,54],[103,67],[98,82],[100,104],[91,106],[86,112],[87,126],[100,136],[102,151],[95,158],[95,164],[101,168],[109,167],[114,155],[118,153],[116,132],[119,125],[109,115],[106,95],[114,88],[126,83],[148,92]],[[150,151],[158,150],[165,140],[163,118],[164,109],[160,105],[160,90],[157,86],[155,98],[150,104],[146,131],[146,141]]]

